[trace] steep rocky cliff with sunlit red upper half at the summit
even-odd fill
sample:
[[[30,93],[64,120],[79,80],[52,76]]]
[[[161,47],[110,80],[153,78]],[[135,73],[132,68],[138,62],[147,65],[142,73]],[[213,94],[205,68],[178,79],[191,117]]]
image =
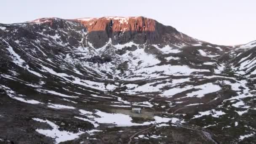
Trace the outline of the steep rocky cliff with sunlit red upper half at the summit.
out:
[[[139,17],[102,17],[75,19],[88,31],[87,40],[95,48],[104,46],[111,38],[113,45],[133,41],[137,44],[196,43],[196,40],[178,32],[171,26]]]

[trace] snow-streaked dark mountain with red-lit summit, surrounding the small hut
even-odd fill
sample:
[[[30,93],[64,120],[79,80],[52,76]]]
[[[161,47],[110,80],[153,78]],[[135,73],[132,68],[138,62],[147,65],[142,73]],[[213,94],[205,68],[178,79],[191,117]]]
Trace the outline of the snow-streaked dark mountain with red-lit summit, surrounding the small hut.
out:
[[[254,46],[142,16],[0,24],[0,144],[253,143]]]

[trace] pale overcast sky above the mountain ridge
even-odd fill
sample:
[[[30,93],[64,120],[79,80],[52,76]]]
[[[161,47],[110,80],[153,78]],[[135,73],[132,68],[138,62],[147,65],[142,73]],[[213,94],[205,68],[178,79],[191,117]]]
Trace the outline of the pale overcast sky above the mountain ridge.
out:
[[[43,17],[145,16],[200,40],[256,40],[256,0],[1,0],[0,23]]]

